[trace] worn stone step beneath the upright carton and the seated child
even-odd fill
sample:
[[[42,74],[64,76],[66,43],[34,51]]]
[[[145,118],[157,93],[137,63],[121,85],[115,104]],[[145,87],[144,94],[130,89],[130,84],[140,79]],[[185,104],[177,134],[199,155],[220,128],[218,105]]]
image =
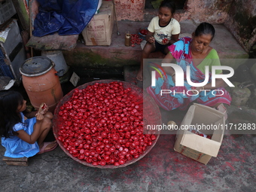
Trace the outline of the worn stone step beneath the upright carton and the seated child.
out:
[[[126,47],[124,45],[125,35],[127,32],[137,34],[139,28],[147,27],[148,24],[148,22],[118,21],[120,35],[117,35],[117,28],[114,26],[110,46],[86,46],[81,37],[75,49],[63,51],[67,65],[79,70],[123,68],[123,66],[139,65],[142,48],[137,44],[135,47]],[[181,37],[191,35],[197,27],[197,24],[191,21],[182,21],[180,24]],[[211,46],[218,51],[221,59],[248,58],[248,53],[243,50],[224,25],[214,26],[216,33]],[[158,56],[160,55],[156,54],[152,58],[157,58]],[[240,64],[227,62],[222,65],[236,69]]]

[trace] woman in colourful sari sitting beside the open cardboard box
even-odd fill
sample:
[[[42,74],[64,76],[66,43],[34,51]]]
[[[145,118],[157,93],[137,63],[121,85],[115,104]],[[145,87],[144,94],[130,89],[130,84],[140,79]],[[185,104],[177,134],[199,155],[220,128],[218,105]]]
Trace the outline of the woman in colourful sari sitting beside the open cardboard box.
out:
[[[214,108],[224,107],[222,103],[230,105],[231,97],[224,89],[225,82],[216,78],[215,87],[212,87],[212,66],[221,66],[218,53],[209,46],[215,36],[215,29],[209,23],[201,23],[192,34],[192,38],[180,38],[179,41],[170,45],[169,53],[163,59],[164,63],[171,63],[173,59],[183,69],[184,86],[175,86],[175,80],[180,74],[175,74],[172,67],[163,67],[159,70],[162,74],[156,73],[156,86],[148,87],[148,93],[160,107],[171,111],[175,108],[187,109],[190,102],[198,102],[202,105]],[[193,87],[187,83],[186,70],[190,66],[190,80],[200,83],[205,80],[206,66],[209,66],[209,81],[203,87]],[[222,70],[216,70],[219,75]],[[163,77],[163,78],[162,78]],[[166,77],[166,78],[165,78]],[[169,90],[169,93],[162,93],[161,90]],[[161,94],[162,93],[162,94]],[[175,93],[175,94],[174,94]]]

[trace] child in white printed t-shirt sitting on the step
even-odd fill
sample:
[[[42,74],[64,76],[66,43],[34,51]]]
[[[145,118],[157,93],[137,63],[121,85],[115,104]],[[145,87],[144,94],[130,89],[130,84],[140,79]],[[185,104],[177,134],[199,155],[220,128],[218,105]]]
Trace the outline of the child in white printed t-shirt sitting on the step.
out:
[[[163,0],[161,2],[158,16],[154,17],[149,23],[148,33],[145,37],[147,44],[142,50],[142,58],[137,80],[143,80],[143,59],[148,59],[150,53],[160,50],[163,54],[169,52],[168,46],[178,41],[181,26],[173,18],[175,13],[175,2]]]

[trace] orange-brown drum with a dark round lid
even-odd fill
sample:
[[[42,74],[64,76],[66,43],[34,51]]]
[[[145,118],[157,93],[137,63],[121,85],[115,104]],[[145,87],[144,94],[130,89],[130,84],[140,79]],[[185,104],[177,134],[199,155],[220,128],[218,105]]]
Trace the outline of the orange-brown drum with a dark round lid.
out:
[[[53,112],[63,97],[54,62],[45,56],[34,56],[25,60],[20,67],[20,73],[33,107],[38,109],[41,103],[45,102],[49,111]]]

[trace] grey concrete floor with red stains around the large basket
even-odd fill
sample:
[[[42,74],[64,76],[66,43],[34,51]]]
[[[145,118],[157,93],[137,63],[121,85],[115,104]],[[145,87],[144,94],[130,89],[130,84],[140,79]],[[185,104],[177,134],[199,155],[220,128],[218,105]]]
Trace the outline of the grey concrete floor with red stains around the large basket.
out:
[[[221,41],[225,38],[222,36]],[[116,38],[111,47],[122,49],[123,44],[115,42]],[[140,87],[134,80],[136,70],[128,72],[124,79]],[[92,80],[82,78],[78,85]],[[74,88],[70,82],[62,84],[65,94]],[[23,87],[17,89],[24,93]],[[256,111],[251,108],[231,105],[227,113],[227,123],[256,123]],[[165,120],[181,123],[185,112],[161,110],[161,114]],[[53,139],[50,134],[48,140]],[[59,147],[29,158],[29,166],[8,166],[0,161],[1,191],[256,191],[255,135],[226,132],[218,157],[212,157],[207,165],[175,152],[174,143],[174,134],[161,134],[145,157],[118,169],[84,166]],[[0,158],[4,152],[0,146]]]

